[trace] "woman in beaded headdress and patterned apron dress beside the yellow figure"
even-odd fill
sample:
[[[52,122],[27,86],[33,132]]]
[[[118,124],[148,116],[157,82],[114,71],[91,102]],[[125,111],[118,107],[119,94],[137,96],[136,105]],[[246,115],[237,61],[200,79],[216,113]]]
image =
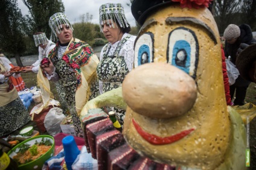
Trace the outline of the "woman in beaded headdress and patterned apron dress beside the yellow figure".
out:
[[[100,93],[121,87],[124,77],[132,70],[136,37],[129,33],[130,25],[121,4],[103,4],[100,7],[100,26],[109,43],[100,53],[97,75],[100,80]],[[123,125],[125,110],[108,107],[115,111]]]

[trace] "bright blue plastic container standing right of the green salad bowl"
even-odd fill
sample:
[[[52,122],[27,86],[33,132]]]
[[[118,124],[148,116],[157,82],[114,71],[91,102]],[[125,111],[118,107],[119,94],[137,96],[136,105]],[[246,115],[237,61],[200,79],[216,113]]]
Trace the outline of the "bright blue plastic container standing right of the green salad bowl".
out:
[[[65,153],[66,168],[72,169],[72,164],[80,153],[77,143],[75,143],[74,136],[66,136],[62,139],[62,144]]]

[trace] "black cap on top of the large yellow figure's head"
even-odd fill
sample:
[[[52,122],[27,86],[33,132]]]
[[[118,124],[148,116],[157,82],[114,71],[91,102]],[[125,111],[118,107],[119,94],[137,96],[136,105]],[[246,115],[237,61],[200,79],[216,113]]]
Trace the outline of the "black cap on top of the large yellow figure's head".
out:
[[[139,25],[143,25],[146,17],[149,13],[152,13],[153,9],[174,3],[176,4],[177,2],[172,2],[171,0],[134,0],[132,2],[132,14]]]

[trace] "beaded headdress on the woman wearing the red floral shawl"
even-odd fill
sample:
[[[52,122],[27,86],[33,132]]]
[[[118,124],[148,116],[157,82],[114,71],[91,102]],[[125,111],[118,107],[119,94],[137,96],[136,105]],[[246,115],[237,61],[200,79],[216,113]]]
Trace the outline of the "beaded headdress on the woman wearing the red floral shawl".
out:
[[[55,13],[53,14],[53,16],[50,17],[49,25],[51,28],[51,40],[54,40],[55,37],[58,39],[57,33],[60,34],[59,25],[62,25],[62,24],[69,25],[72,31],[74,30],[74,28],[72,27],[72,25],[68,20],[68,17],[65,14]],[[62,28],[62,26],[60,26],[60,28]]]

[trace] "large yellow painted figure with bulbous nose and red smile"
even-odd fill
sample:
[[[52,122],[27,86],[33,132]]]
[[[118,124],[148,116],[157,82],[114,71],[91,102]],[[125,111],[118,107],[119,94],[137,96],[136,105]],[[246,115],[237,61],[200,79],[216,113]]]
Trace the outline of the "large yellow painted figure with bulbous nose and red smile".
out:
[[[177,169],[244,169],[245,126],[225,102],[216,22],[193,3],[133,1],[142,25],[134,69],[123,89],[89,101],[80,118],[127,104],[123,135],[141,156]]]

